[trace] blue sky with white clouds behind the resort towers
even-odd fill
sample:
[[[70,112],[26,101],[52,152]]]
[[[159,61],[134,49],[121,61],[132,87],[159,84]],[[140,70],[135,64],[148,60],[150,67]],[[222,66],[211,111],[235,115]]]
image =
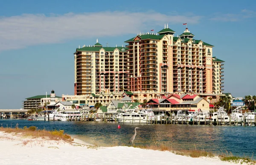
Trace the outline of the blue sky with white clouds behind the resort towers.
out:
[[[0,6],[0,109],[55,90],[74,94],[74,56],[80,45],[122,46],[137,33],[168,23],[180,35],[214,45],[224,63],[225,92],[256,95],[256,2],[170,0],[12,0]]]

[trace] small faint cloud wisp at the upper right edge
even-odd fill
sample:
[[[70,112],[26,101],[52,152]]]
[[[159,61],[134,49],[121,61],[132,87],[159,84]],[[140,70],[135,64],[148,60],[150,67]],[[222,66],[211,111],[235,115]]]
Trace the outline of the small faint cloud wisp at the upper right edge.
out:
[[[216,21],[224,21],[224,22],[235,22],[240,21],[245,18],[251,18],[256,17],[256,12],[243,9],[239,13],[236,14],[221,14],[221,13],[215,13],[215,16],[210,18],[210,20],[216,20]]]

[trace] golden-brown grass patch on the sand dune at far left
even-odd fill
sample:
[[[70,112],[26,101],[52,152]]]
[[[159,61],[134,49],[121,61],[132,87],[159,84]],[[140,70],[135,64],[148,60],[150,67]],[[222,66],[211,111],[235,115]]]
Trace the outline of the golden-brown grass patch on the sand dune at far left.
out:
[[[31,136],[32,138],[42,138],[47,140],[64,140],[67,142],[73,142],[73,138],[70,135],[64,133],[64,130],[39,130],[35,126],[19,128],[16,124],[15,128],[0,127],[0,131],[6,133],[20,134],[21,136]],[[26,142],[23,142],[26,143]]]

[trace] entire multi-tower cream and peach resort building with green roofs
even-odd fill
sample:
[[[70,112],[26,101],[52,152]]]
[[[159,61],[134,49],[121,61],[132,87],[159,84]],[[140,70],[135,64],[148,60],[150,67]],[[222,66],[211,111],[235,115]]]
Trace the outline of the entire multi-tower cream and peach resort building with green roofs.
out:
[[[73,97],[87,98],[83,102],[90,105],[101,101],[92,96],[102,94],[101,102],[109,104],[123,91],[132,92],[140,102],[175,91],[216,99],[224,91],[224,61],[213,57],[214,46],[194,37],[188,28],[175,37],[167,25],[156,34],[134,36],[125,47],[103,47],[98,40],[84,45],[74,53]]]

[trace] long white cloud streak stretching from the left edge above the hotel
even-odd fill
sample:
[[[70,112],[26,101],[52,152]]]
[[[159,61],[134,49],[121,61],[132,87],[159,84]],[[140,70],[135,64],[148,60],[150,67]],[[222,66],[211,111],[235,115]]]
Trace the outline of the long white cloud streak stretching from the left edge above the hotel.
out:
[[[136,34],[150,24],[198,23],[201,16],[166,15],[157,12],[22,14],[0,17],[0,51],[74,38]]]

